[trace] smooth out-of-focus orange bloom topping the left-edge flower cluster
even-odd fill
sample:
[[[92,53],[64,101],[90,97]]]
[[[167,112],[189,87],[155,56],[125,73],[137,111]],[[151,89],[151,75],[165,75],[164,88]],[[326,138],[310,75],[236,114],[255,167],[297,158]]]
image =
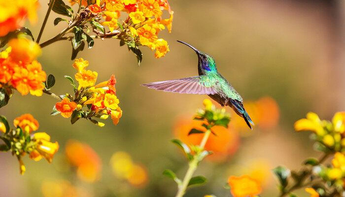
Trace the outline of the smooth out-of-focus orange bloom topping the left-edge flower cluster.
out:
[[[11,58],[17,62],[31,63],[41,54],[40,46],[36,42],[26,38],[11,39],[8,42],[8,46],[12,47],[10,53]]]

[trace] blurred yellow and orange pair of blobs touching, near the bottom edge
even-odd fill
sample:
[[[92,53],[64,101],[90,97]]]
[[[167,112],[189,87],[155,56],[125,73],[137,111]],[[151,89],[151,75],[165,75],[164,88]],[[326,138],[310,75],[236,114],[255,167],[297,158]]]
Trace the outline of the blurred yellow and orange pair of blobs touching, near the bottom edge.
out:
[[[118,151],[111,156],[110,166],[115,176],[127,180],[136,187],[147,184],[148,175],[144,167],[135,164],[132,157],[123,151]]]

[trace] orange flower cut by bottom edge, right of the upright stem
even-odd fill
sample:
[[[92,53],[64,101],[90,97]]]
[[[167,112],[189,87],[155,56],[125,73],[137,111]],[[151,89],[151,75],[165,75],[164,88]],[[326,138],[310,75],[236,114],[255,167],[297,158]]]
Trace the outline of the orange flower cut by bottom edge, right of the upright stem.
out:
[[[248,175],[230,176],[228,183],[234,197],[255,196],[261,193],[260,183]]]

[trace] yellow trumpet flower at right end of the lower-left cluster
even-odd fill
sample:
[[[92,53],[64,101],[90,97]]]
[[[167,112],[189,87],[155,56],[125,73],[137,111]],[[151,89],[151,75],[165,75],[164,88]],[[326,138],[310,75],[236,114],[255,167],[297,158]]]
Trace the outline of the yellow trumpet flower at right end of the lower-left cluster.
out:
[[[44,157],[51,163],[55,153],[59,149],[58,142],[50,142],[50,136],[45,132],[36,132],[34,134],[34,141],[36,145],[35,149],[30,153],[30,158],[38,161]]]

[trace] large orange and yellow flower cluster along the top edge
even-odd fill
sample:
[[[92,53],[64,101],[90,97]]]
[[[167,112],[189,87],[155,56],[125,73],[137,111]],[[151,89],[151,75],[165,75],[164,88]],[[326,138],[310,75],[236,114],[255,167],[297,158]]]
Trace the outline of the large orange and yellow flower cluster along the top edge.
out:
[[[75,22],[73,33],[76,37],[78,33],[85,34],[85,40],[89,47],[93,37],[97,38],[117,38],[120,45],[127,44],[138,58],[140,63],[142,54],[138,46],[147,46],[151,50],[156,50],[155,57],[165,56],[169,51],[167,41],[158,38],[158,33],[165,28],[169,32],[172,30],[173,11],[168,0],[99,0],[88,4],[86,0],[70,0],[74,5],[78,2],[80,15],[77,19],[73,17],[70,24]],[[66,6],[65,6],[66,7]],[[162,19],[163,10],[168,10],[169,19]],[[124,21],[120,21],[121,14],[127,13]],[[106,27],[109,31],[105,31]],[[92,28],[96,36],[89,36],[83,29]],[[72,43],[75,49],[83,39],[73,38]]]

